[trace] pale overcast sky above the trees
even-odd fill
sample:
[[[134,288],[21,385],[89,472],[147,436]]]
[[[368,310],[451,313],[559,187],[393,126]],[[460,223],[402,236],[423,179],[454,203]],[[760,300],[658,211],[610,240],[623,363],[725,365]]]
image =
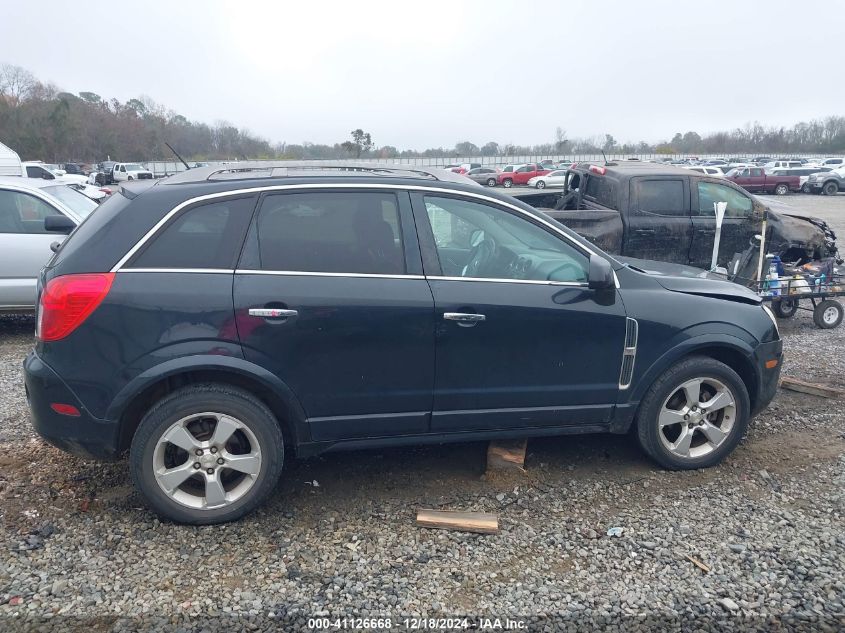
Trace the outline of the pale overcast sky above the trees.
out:
[[[813,8],[817,5],[817,8]],[[4,3],[0,63],[271,142],[657,141],[845,112],[845,3]],[[825,70],[826,68],[826,70]]]

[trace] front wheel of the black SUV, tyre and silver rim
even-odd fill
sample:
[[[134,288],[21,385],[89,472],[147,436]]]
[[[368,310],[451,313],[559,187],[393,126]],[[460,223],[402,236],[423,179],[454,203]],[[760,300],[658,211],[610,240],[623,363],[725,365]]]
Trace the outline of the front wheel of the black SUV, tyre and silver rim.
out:
[[[733,369],[692,356],[666,370],[646,392],[637,412],[637,437],[664,468],[707,468],[736,448],[750,411],[748,390]]]

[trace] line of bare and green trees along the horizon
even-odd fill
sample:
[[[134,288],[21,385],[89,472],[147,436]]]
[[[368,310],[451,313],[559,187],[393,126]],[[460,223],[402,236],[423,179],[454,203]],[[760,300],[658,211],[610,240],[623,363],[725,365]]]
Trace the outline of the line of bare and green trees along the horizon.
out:
[[[828,116],[792,127],[749,123],[730,131],[700,135],[677,132],[671,139],[618,142],[611,134],[568,138],[561,127],[548,143],[516,145],[461,141],[454,147],[422,151],[378,146],[369,132],[350,133],[351,140],[328,144],[271,143],[227,121],[213,125],[190,121],[149,97],[121,103],[94,92],[65,92],[39,81],[19,66],[0,66],[0,142],[24,159],[90,162],[113,159],[172,159],[170,143],[191,160],[417,158],[513,155],[596,154],[737,154],[845,153],[845,117]]]

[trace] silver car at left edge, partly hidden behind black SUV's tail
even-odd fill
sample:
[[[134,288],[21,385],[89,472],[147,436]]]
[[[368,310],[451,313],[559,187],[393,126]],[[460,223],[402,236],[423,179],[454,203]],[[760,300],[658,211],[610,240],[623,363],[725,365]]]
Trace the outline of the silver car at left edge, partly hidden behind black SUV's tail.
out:
[[[35,310],[36,279],[53,254],[50,244],[62,241],[97,206],[67,184],[0,178],[0,312]]]

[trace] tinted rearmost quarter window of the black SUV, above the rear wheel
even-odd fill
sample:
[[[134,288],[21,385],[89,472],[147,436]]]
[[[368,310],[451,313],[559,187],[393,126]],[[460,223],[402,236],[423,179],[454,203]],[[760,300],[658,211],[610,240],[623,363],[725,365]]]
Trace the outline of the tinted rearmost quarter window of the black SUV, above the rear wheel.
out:
[[[182,211],[128,267],[234,269],[254,208],[255,197],[251,196]]]

